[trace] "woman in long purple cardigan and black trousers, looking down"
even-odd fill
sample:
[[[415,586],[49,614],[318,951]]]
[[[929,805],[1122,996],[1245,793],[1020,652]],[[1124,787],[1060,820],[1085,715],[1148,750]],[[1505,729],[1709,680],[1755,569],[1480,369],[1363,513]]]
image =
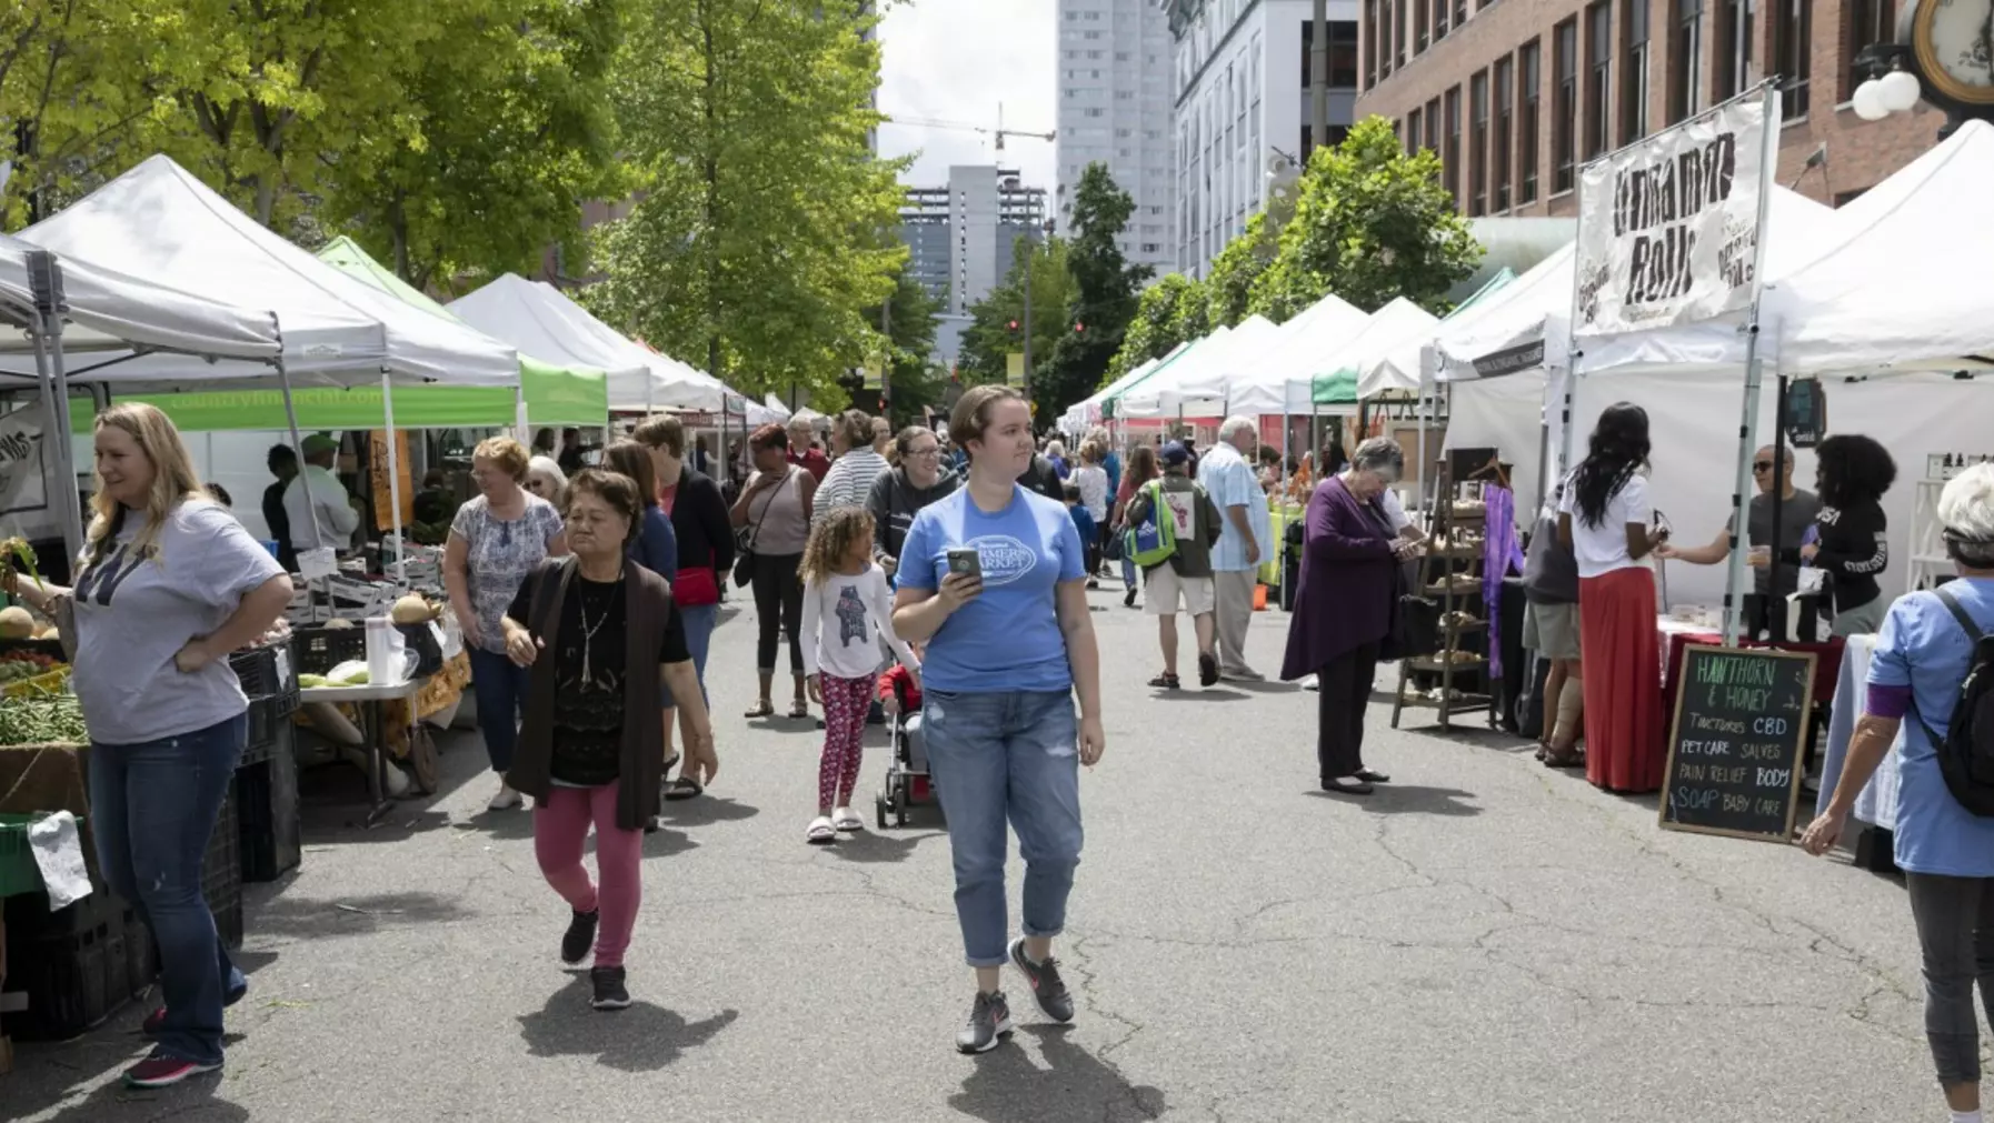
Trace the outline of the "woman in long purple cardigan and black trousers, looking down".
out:
[[[1302,538],[1302,579],[1288,617],[1280,677],[1314,673],[1316,761],[1322,790],[1370,794],[1390,777],[1364,767],[1364,709],[1378,673],[1378,649],[1392,631],[1398,563],[1418,550],[1394,534],[1378,496],[1398,480],[1406,454],[1372,438],[1350,466],[1316,484]]]

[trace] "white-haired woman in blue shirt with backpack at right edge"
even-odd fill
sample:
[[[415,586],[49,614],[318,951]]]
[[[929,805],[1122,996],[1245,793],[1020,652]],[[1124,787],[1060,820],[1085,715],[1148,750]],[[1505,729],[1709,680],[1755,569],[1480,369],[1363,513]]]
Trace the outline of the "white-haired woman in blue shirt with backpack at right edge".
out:
[[[1910,890],[1910,916],[1924,952],[1924,1037],[1954,1119],[1980,1119],[1980,1000],[1994,1004],[1994,818],[1952,798],[1936,739],[1974,659],[1974,635],[1994,633],[1994,464],[1958,476],[1938,496],[1946,554],[1958,571],[1936,591],[1890,605],[1870,655],[1868,699],[1848,743],[1834,798],[1801,842],[1813,854],[1834,846],[1856,796],[1884,753],[1898,745],[1896,866]],[[1964,617],[1964,619],[1962,619]],[[1904,725],[1904,717],[1910,725]]]

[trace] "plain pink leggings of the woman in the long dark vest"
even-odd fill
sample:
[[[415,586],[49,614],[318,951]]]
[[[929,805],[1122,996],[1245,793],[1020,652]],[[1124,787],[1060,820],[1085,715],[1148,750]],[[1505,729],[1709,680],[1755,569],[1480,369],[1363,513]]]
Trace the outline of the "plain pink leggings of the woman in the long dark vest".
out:
[[[863,717],[863,713],[861,713]],[[636,906],[644,900],[644,832],[616,828],[618,785],[600,788],[552,788],[532,808],[532,852],[540,874],[574,912],[602,910],[596,928],[596,966],[620,968],[636,928]],[[596,870],[602,890],[588,880],[582,846],[588,824],[596,826]]]

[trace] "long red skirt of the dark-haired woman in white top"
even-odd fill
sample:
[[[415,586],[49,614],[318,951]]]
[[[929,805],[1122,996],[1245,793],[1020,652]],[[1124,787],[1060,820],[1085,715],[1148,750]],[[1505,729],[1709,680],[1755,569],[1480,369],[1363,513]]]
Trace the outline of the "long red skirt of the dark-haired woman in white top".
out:
[[[1601,788],[1661,788],[1667,753],[1659,643],[1651,569],[1635,565],[1579,581],[1585,779]]]

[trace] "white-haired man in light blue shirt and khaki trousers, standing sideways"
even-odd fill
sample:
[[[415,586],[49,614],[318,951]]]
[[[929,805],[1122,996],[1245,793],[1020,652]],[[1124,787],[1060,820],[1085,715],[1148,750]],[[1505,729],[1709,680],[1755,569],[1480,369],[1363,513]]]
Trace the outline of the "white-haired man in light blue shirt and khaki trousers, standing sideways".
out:
[[[1272,554],[1274,528],[1266,492],[1252,470],[1260,434],[1252,418],[1226,418],[1218,444],[1198,460],[1198,484],[1212,496],[1224,534],[1212,548],[1212,587],[1218,623],[1218,677],[1242,683],[1266,679],[1246,665],[1246,625],[1252,623],[1252,593],[1260,581],[1260,562]]]

